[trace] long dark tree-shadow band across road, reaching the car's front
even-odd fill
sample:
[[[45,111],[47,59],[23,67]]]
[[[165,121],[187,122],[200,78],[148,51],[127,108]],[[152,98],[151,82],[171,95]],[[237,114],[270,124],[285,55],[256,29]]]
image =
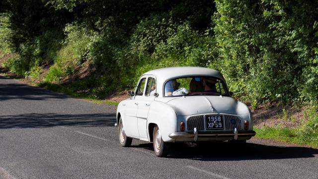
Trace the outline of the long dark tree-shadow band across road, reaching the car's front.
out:
[[[0,129],[8,128],[42,128],[54,126],[114,126],[114,113],[94,114],[20,114],[0,116]]]

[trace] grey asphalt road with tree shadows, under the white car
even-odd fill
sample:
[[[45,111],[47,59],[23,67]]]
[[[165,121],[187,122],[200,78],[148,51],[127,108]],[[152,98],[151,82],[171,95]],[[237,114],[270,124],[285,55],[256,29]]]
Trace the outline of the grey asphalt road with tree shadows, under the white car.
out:
[[[115,109],[0,76],[0,179],[318,179],[317,149],[264,140],[120,147]]]

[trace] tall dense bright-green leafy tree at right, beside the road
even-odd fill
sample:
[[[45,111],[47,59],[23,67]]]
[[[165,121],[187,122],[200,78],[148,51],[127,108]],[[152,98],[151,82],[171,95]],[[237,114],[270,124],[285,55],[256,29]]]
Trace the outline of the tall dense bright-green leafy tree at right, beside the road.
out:
[[[317,102],[316,3],[216,0],[216,5],[213,30],[222,73],[238,97],[291,102],[301,96]]]

